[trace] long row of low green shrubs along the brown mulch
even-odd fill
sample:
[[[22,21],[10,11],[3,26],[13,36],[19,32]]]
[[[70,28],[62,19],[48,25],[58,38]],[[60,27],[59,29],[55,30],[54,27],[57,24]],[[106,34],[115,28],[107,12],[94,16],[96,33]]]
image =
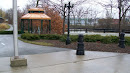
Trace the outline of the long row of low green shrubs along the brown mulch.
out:
[[[57,34],[29,34],[24,33],[21,35],[22,39],[26,40],[59,40],[62,42],[66,42],[67,35],[57,35]],[[70,35],[71,42],[76,42],[78,40],[78,35]],[[125,37],[126,45],[130,45],[130,37]],[[117,36],[101,36],[101,35],[84,35],[85,42],[97,42],[108,44],[108,43],[118,43],[119,38]]]

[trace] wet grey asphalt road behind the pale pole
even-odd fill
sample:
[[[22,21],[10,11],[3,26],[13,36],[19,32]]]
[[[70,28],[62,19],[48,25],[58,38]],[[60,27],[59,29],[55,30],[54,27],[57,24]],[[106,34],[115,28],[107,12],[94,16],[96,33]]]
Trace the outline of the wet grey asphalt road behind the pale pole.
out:
[[[13,48],[13,35],[0,35],[0,57],[11,57],[14,55]],[[59,51],[69,51],[67,48],[57,48],[48,46],[39,46],[29,43],[24,43],[18,40],[19,54],[30,55],[30,54],[41,54],[51,53]]]

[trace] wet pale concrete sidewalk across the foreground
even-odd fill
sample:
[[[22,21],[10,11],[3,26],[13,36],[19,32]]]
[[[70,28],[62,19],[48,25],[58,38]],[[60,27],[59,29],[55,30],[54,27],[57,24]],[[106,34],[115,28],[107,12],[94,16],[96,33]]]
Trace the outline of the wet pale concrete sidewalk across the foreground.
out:
[[[0,58],[0,73],[130,73],[130,54],[63,51],[26,55],[27,67],[10,67],[10,58]]]

